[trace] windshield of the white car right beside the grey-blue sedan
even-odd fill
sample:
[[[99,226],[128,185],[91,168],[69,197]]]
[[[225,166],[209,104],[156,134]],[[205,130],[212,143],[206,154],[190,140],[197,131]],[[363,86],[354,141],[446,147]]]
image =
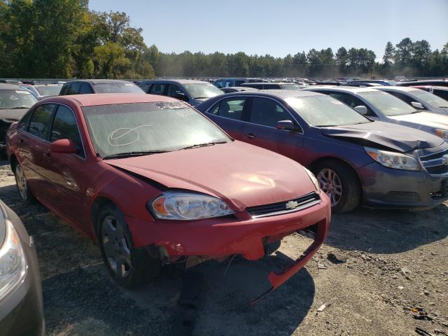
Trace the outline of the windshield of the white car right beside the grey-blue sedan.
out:
[[[385,116],[403,116],[416,112],[412,106],[386,92],[365,91],[358,94],[379,109]]]

